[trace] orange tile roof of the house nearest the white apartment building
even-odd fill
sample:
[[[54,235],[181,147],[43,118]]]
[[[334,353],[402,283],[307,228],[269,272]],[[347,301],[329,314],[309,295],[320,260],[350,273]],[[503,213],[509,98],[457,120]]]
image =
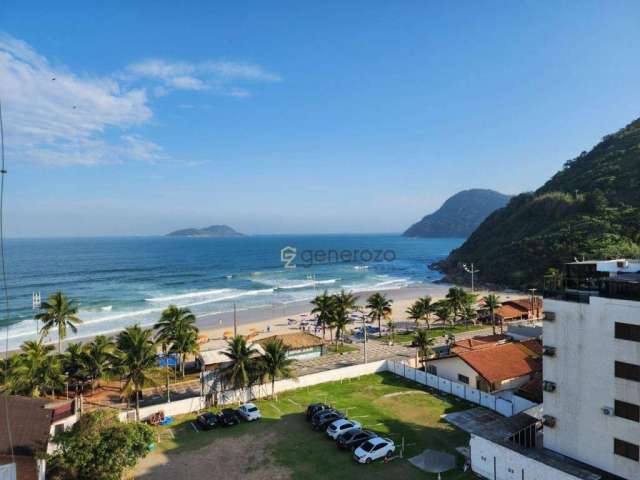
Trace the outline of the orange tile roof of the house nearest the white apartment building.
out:
[[[462,352],[458,356],[489,383],[497,383],[541,371],[542,360],[532,348],[511,342]]]

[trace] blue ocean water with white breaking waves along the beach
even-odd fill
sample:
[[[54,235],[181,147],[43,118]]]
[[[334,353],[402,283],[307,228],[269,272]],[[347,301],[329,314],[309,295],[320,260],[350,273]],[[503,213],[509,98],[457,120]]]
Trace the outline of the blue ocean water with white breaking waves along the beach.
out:
[[[433,282],[440,275],[428,265],[461,243],[398,235],[9,239],[9,346],[36,336],[34,292],[45,299],[62,290],[76,299],[83,320],[78,336],[96,335],[153,324],[169,304],[202,317],[229,312],[234,303],[242,310],[307,300],[324,290]],[[295,268],[284,267],[284,247],[296,250]]]

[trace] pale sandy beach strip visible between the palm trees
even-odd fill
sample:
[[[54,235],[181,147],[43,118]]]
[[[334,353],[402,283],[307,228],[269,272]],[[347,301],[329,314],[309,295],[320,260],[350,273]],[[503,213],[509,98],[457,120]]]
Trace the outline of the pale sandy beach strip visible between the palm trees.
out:
[[[439,300],[443,298],[450,287],[453,284],[445,283],[419,283],[409,286],[395,288],[395,289],[379,289],[379,290],[367,290],[367,291],[355,291],[353,292],[358,298],[358,304],[364,306],[366,299],[373,293],[382,293],[386,295],[390,300],[393,300],[392,305],[392,319],[396,322],[407,321],[405,310],[418,298],[425,295],[429,295],[433,300]],[[482,296],[488,293],[487,290],[477,290],[477,295]],[[520,297],[524,295],[518,292],[497,292],[504,299],[510,297]],[[244,309],[238,309],[236,311],[236,325],[237,331],[241,335],[248,335],[249,333],[257,334],[257,336],[265,336],[265,334],[274,335],[276,333],[286,333],[299,331],[299,328],[291,327],[288,324],[289,318],[298,317],[303,313],[309,313],[313,308],[311,300],[299,300],[284,304],[275,305],[263,305],[248,307]],[[202,343],[200,348],[202,350],[209,350],[214,348],[220,348],[226,345],[226,340],[223,339],[225,331],[233,331],[233,318],[234,313],[231,312],[219,312],[197,317],[197,326],[200,329],[200,335],[206,335],[208,341]],[[144,328],[150,328],[145,326]],[[82,324],[78,326],[81,332]],[[122,331],[122,328],[114,329],[110,332],[103,332],[101,335],[115,336],[118,332]],[[88,342],[95,338],[96,335],[78,335],[72,338],[67,338],[62,342],[63,348],[72,342]],[[31,338],[27,339],[31,340]],[[57,346],[57,340],[49,340],[46,342],[48,345]],[[19,348],[10,348],[8,353],[19,353]]]

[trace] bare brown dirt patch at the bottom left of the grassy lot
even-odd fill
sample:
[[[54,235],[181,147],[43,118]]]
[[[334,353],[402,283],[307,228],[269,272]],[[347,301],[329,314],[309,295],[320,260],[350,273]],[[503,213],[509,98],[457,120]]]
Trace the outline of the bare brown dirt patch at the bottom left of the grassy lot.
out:
[[[207,435],[207,432],[201,432]],[[137,479],[188,480],[223,478],[224,480],[288,480],[289,469],[271,462],[268,448],[276,441],[274,432],[227,436],[197,450],[166,451],[142,460],[135,471]]]

